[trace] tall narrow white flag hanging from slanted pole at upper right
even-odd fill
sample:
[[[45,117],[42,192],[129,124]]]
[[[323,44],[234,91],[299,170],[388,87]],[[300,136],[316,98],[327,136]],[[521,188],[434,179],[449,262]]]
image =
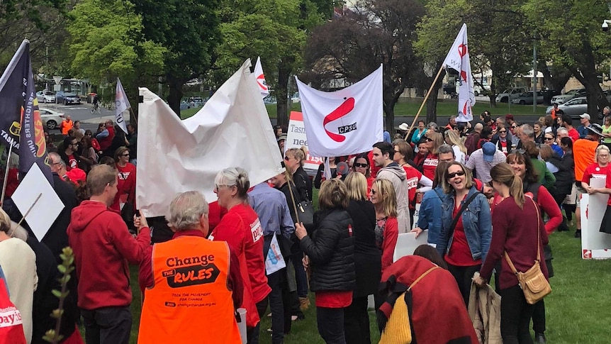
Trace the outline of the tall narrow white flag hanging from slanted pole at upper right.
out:
[[[469,45],[466,39],[466,24],[463,23],[459,34],[452,44],[444,60],[444,66],[459,72],[459,113],[457,122],[473,121],[471,107],[475,105],[473,93],[473,76],[471,75],[471,61],[469,60]]]

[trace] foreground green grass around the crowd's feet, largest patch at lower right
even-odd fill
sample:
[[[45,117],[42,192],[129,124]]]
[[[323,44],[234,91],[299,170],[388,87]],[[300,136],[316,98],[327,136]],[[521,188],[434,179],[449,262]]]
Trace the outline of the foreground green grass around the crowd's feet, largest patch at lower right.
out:
[[[314,206],[318,208],[318,190],[314,190]],[[582,260],[581,240],[573,238],[573,231],[553,233],[549,240],[554,251],[554,272],[551,278],[553,292],[546,297],[546,337],[549,343],[610,343],[611,341],[611,298],[607,295],[611,285],[611,260]],[[133,328],[130,343],[138,338],[140,321],[140,292],[138,269],[130,267],[132,278]],[[314,304],[314,296],[310,294]],[[285,338],[286,344],[324,343],[316,326],[315,306],[305,312],[306,319],[294,321],[291,333]],[[379,333],[374,312],[369,313],[371,341],[378,343]],[[267,329],[270,318],[261,323],[260,343],[271,343]]]

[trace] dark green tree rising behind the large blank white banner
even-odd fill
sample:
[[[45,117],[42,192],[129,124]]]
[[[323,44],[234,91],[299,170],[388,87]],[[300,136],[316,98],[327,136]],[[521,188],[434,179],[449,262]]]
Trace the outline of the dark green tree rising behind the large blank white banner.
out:
[[[132,0],[142,17],[136,40],[150,40],[165,48],[160,61],[169,86],[168,104],[180,113],[182,87],[189,79],[206,74],[215,62],[220,41],[220,0]],[[143,56],[144,50],[137,50]]]

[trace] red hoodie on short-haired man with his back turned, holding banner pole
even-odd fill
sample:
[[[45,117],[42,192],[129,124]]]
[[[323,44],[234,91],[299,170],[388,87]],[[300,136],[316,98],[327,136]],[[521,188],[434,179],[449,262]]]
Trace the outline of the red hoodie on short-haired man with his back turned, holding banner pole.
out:
[[[83,201],[72,210],[67,233],[77,267],[79,307],[129,306],[128,261],[140,264],[150,245],[149,228],[134,239],[118,212],[98,201]]]

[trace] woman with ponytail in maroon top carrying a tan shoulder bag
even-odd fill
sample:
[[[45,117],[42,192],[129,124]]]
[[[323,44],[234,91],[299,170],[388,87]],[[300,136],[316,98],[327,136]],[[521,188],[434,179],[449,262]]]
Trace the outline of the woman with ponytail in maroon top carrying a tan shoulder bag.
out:
[[[500,334],[503,343],[532,343],[528,325],[534,306],[527,303],[517,277],[507,260],[503,259],[503,253],[509,255],[517,271],[525,272],[532,267],[537,250],[543,251],[547,233],[537,204],[524,196],[522,179],[514,174],[513,169],[502,162],[493,167],[490,174],[493,187],[503,200],[493,213],[492,243],[479,271],[480,276],[474,282],[480,286],[486,284],[500,262]],[[537,241],[539,236],[541,240]],[[545,264],[539,264],[547,277]]]

